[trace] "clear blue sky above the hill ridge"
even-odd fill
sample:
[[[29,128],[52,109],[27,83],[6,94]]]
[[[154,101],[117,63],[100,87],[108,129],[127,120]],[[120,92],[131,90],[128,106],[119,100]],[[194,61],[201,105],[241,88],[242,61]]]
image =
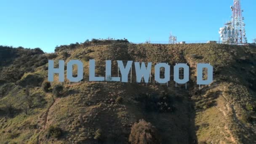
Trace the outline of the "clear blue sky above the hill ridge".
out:
[[[233,0],[1,0],[0,45],[41,48],[91,38],[131,42],[219,40]],[[248,42],[256,38],[256,0],[242,0]]]

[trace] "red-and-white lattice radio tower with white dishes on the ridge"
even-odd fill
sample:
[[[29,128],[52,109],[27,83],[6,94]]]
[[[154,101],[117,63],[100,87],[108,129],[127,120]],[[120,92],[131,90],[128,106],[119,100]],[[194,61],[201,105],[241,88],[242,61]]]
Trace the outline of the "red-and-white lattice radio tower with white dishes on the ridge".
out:
[[[224,27],[221,27],[219,34],[221,40],[226,44],[244,44],[247,43],[245,37],[245,23],[242,16],[240,0],[234,0],[234,5],[230,6],[232,10],[231,21],[227,21]]]

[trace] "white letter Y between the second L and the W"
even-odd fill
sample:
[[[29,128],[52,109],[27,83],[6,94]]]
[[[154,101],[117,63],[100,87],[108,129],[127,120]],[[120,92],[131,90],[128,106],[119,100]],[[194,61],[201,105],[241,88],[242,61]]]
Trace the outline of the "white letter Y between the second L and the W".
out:
[[[131,64],[133,61],[127,61],[126,66],[123,66],[123,61],[117,61],[118,67],[120,69],[121,75],[122,75],[122,82],[127,83],[128,82],[128,74],[131,69]]]

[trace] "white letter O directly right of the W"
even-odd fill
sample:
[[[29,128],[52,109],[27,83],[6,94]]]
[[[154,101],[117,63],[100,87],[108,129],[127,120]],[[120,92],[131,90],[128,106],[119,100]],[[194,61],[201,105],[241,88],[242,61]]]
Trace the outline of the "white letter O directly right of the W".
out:
[[[160,78],[160,68],[165,68],[165,78]],[[155,65],[155,80],[158,83],[167,83],[170,80],[170,66],[166,63],[159,63]]]

